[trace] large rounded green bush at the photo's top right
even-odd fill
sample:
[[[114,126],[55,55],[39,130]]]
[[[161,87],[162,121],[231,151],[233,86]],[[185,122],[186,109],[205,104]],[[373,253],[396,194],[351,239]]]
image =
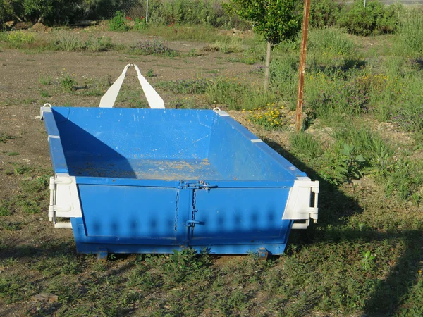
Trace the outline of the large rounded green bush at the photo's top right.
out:
[[[398,25],[396,7],[385,8],[379,1],[367,2],[355,0],[351,6],[341,10],[338,23],[353,35],[380,35],[394,32]]]

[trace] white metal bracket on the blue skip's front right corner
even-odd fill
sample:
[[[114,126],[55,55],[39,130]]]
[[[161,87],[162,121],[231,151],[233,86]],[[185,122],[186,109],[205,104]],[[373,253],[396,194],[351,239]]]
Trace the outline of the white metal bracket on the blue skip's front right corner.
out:
[[[302,220],[301,222],[294,222],[293,229],[307,229],[310,219],[317,223],[319,214],[318,197],[318,181],[312,181],[307,177],[297,178],[294,180],[294,186],[290,189],[282,219]]]

